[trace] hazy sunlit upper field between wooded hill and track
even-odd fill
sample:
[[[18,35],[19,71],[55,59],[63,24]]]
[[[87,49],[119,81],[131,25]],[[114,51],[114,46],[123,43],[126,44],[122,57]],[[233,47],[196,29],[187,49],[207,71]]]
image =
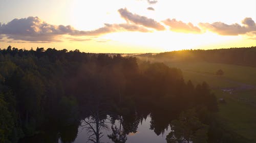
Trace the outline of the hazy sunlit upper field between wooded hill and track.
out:
[[[256,85],[256,68],[217,64],[217,63],[172,63],[166,62],[170,67],[180,68],[184,74],[184,78],[194,78],[195,82],[204,81],[206,79],[212,79],[213,82],[209,82],[213,87],[223,87],[223,85],[217,85],[215,82],[225,82],[226,87],[232,87],[238,83],[244,83],[249,85]],[[223,76],[215,75],[216,71],[222,69],[224,71]],[[195,77],[197,78],[195,78]],[[199,79],[198,79],[199,78]]]

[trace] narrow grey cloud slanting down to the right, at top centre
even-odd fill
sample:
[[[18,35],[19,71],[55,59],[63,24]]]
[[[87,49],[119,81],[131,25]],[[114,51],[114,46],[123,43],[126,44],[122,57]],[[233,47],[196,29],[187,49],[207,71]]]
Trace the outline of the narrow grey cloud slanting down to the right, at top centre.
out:
[[[155,21],[154,19],[133,14],[129,12],[126,8],[119,9],[118,12],[120,13],[121,17],[124,18],[127,22],[132,22],[135,24],[143,25],[145,27],[154,28],[155,30],[158,30],[158,31],[165,30],[164,26],[161,25],[159,22]]]

